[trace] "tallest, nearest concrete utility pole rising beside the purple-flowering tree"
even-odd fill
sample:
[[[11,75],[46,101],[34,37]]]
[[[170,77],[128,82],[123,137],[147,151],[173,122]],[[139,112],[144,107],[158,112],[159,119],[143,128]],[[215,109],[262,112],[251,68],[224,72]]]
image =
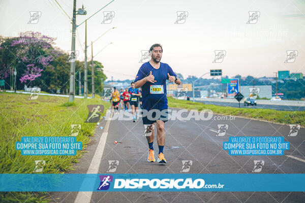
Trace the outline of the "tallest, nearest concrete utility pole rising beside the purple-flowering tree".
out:
[[[75,29],[76,29],[76,0],[73,1],[73,17],[72,17],[72,45],[71,45],[71,59],[75,58]],[[69,102],[74,100],[75,94],[75,61],[70,65],[70,88],[69,88]]]

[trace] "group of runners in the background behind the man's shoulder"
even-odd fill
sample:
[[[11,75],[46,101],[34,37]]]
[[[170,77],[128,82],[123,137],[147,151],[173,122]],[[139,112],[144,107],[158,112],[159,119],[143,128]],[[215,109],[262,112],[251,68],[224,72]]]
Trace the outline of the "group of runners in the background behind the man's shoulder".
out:
[[[133,122],[136,122],[139,119],[138,107],[142,105],[142,93],[141,88],[135,88],[134,82],[130,85],[130,88],[125,90],[120,89],[120,91],[114,87],[114,90],[111,92],[111,100],[115,114],[118,114],[119,105],[121,110],[124,108],[125,111],[129,111],[129,106],[131,106]]]

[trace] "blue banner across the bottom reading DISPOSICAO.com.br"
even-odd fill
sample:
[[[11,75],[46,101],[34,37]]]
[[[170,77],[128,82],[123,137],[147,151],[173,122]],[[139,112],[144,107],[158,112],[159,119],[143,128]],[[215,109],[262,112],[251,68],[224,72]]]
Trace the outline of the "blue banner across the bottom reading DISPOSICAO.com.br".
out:
[[[0,174],[0,191],[305,191],[305,174]]]

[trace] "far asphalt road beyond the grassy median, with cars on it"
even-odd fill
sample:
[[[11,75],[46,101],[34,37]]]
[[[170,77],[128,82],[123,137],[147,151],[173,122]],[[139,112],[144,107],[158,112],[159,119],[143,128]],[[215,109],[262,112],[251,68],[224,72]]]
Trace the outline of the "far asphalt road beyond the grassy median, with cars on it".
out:
[[[237,107],[238,103],[230,103],[225,101],[202,101],[196,100],[197,102],[201,102],[207,105],[217,105],[223,107]],[[305,107],[297,107],[297,106],[288,106],[288,105],[257,105],[257,106],[244,106],[243,100],[240,101],[240,108],[247,108],[247,109],[274,109],[279,111],[305,111]]]

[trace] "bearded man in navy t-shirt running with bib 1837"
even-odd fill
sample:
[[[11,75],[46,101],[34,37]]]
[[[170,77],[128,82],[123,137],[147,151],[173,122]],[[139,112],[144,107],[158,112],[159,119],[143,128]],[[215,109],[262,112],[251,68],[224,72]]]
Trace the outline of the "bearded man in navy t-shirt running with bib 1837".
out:
[[[148,142],[148,162],[155,161],[154,138],[157,123],[157,142],[159,146],[158,162],[166,163],[163,154],[165,144],[164,124],[168,118],[168,104],[166,98],[166,80],[173,84],[181,84],[180,79],[167,63],[160,62],[163,49],[160,44],[154,44],[149,49],[150,61],[143,63],[135,79],[135,88],[142,88],[142,110],[147,110],[147,115],[142,115],[145,136]],[[147,134],[146,134],[147,132]],[[150,134],[151,133],[151,134]],[[150,134],[150,136],[147,136]]]

